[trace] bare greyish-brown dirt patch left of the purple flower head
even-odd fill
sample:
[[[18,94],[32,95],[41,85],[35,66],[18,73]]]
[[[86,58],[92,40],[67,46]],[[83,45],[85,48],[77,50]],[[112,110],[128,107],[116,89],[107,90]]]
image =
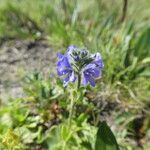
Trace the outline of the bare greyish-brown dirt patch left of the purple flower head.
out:
[[[0,97],[21,97],[21,80],[32,71],[48,75],[54,70],[56,54],[45,40],[5,41],[0,45]]]

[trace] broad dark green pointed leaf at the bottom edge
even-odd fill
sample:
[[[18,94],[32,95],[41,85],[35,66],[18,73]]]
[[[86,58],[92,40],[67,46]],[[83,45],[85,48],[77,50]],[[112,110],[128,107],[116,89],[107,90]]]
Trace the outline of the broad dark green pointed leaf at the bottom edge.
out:
[[[99,125],[95,150],[119,150],[115,136],[105,121]]]

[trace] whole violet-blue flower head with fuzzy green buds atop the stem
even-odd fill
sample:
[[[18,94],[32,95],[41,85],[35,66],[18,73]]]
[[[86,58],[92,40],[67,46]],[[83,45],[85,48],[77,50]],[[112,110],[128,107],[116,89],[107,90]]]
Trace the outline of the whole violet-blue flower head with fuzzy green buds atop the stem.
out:
[[[100,53],[90,54],[87,49],[71,45],[66,54],[58,53],[57,56],[57,74],[64,77],[64,86],[77,79],[84,86],[88,83],[95,86],[95,78],[101,76],[104,67]]]

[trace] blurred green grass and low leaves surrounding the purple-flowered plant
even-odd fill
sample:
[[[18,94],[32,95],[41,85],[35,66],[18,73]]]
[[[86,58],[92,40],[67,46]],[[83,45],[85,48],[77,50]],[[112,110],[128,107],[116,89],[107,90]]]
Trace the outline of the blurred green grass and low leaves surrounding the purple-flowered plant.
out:
[[[0,0],[0,43],[44,39],[56,52],[70,44],[99,51],[105,64],[103,77],[95,89],[83,94],[90,101],[84,107],[90,116],[102,114],[108,122],[113,120],[110,125],[121,149],[149,150],[150,1],[128,0],[126,11],[123,6],[123,0]],[[50,145],[62,140],[56,136],[59,128],[52,127],[67,116],[67,95],[59,79],[53,86],[41,73],[27,75],[24,82],[26,97],[0,99],[0,149],[51,150]],[[92,126],[83,120],[81,126],[90,131]],[[89,122],[96,123],[93,120]],[[74,121],[75,131],[78,123]],[[62,128],[62,134],[70,132]],[[83,141],[92,140],[95,129],[91,131],[82,133],[87,135]],[[70,136],[81,143],[78,135]]]

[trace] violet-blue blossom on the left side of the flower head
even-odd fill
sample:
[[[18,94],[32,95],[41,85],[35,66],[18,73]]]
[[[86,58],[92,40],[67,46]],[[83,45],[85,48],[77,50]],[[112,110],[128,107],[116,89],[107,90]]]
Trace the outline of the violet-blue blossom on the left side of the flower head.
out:
[[[68,57],[61,53],[57,54],[57,74],[59,76],[65,76],[64,86],[67,86],[69,82],[74,82],[76,80],[75,73],[69,63]]]

